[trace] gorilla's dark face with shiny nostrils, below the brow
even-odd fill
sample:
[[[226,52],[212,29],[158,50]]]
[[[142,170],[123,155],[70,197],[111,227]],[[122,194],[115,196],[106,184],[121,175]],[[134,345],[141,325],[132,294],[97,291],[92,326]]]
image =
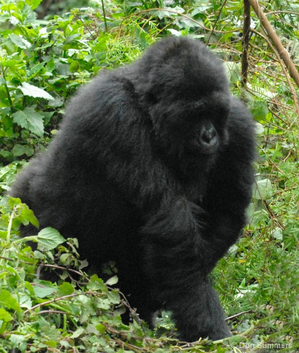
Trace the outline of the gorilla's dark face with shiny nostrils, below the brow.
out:
[[[213,155],[227,143],[229,111],[230,96],[225,91],[203,95],[197,100],[170,95],[150,110],[160,143],[172,141],[190,156],[205,159],[209,156],[214,159]]]

